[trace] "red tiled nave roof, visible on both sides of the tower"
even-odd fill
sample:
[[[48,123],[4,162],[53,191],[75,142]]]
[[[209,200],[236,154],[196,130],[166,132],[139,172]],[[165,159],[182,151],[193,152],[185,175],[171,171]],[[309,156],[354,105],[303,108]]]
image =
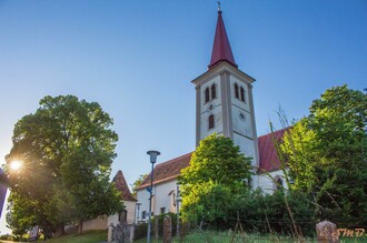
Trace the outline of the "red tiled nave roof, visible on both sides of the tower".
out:
[[[259,170],[258,172],[270,172],[280,169],[280,162],[277,156],[277,151],[274,146],[274,140],[280,141],[282,135],[288,129],[282,129],[272,133],[268,133],[258,138],[259,146]],[[155,166],[153,184],[159,184],[172,179],[176,179],[182,169],[189,166],[191,160],[191,153],[185,154],[179,158],[175,158],[163,163],[159,163]],[[142,181],[138,189],[143,189],[150,185],[150,173]]]

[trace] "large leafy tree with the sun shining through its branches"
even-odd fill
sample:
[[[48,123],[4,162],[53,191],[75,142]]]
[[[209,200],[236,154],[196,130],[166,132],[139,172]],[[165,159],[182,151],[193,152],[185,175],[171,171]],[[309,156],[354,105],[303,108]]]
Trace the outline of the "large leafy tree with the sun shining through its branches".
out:
[[[109,182],[118,140],[111,125],[98,103],[73,95],[46,97],[36,113],[20,119],[6,156],[10,226],[54,230],[121,210],[121,198]],[[21,170],[10,170],[14,160],[22,162]]]

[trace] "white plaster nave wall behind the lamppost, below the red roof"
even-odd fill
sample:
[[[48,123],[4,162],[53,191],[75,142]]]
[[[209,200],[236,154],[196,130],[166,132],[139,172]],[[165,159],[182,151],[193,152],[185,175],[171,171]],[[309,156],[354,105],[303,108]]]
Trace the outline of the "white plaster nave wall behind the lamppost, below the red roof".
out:
[[[159,215],[160,214],[160,209],[161,207],[166,207],[166,213],[168,213],[170,210],[172,210],[172,205],[171,205],[171,196],[169,195],[169,193],[172,190],[177,190],[177,181],[172,180],[172,181],[168,181],[165,183],[160,183],[157,185],[153,185],[153,203],[152,203],[152,209],[151,211],[155,213],[155,215]],[[140,205],[140,210],[139,210],[139,220],[141,221],[141,212],[146,211],[149,212],[149,192],[143,189],[143,190],[139,190],[137,192],[137,200],[139,203],[141,203]],[[173,213],[176,212],[176,210],[173,211]],[[148,217],[145,219],[145,221],[147,221]]]

